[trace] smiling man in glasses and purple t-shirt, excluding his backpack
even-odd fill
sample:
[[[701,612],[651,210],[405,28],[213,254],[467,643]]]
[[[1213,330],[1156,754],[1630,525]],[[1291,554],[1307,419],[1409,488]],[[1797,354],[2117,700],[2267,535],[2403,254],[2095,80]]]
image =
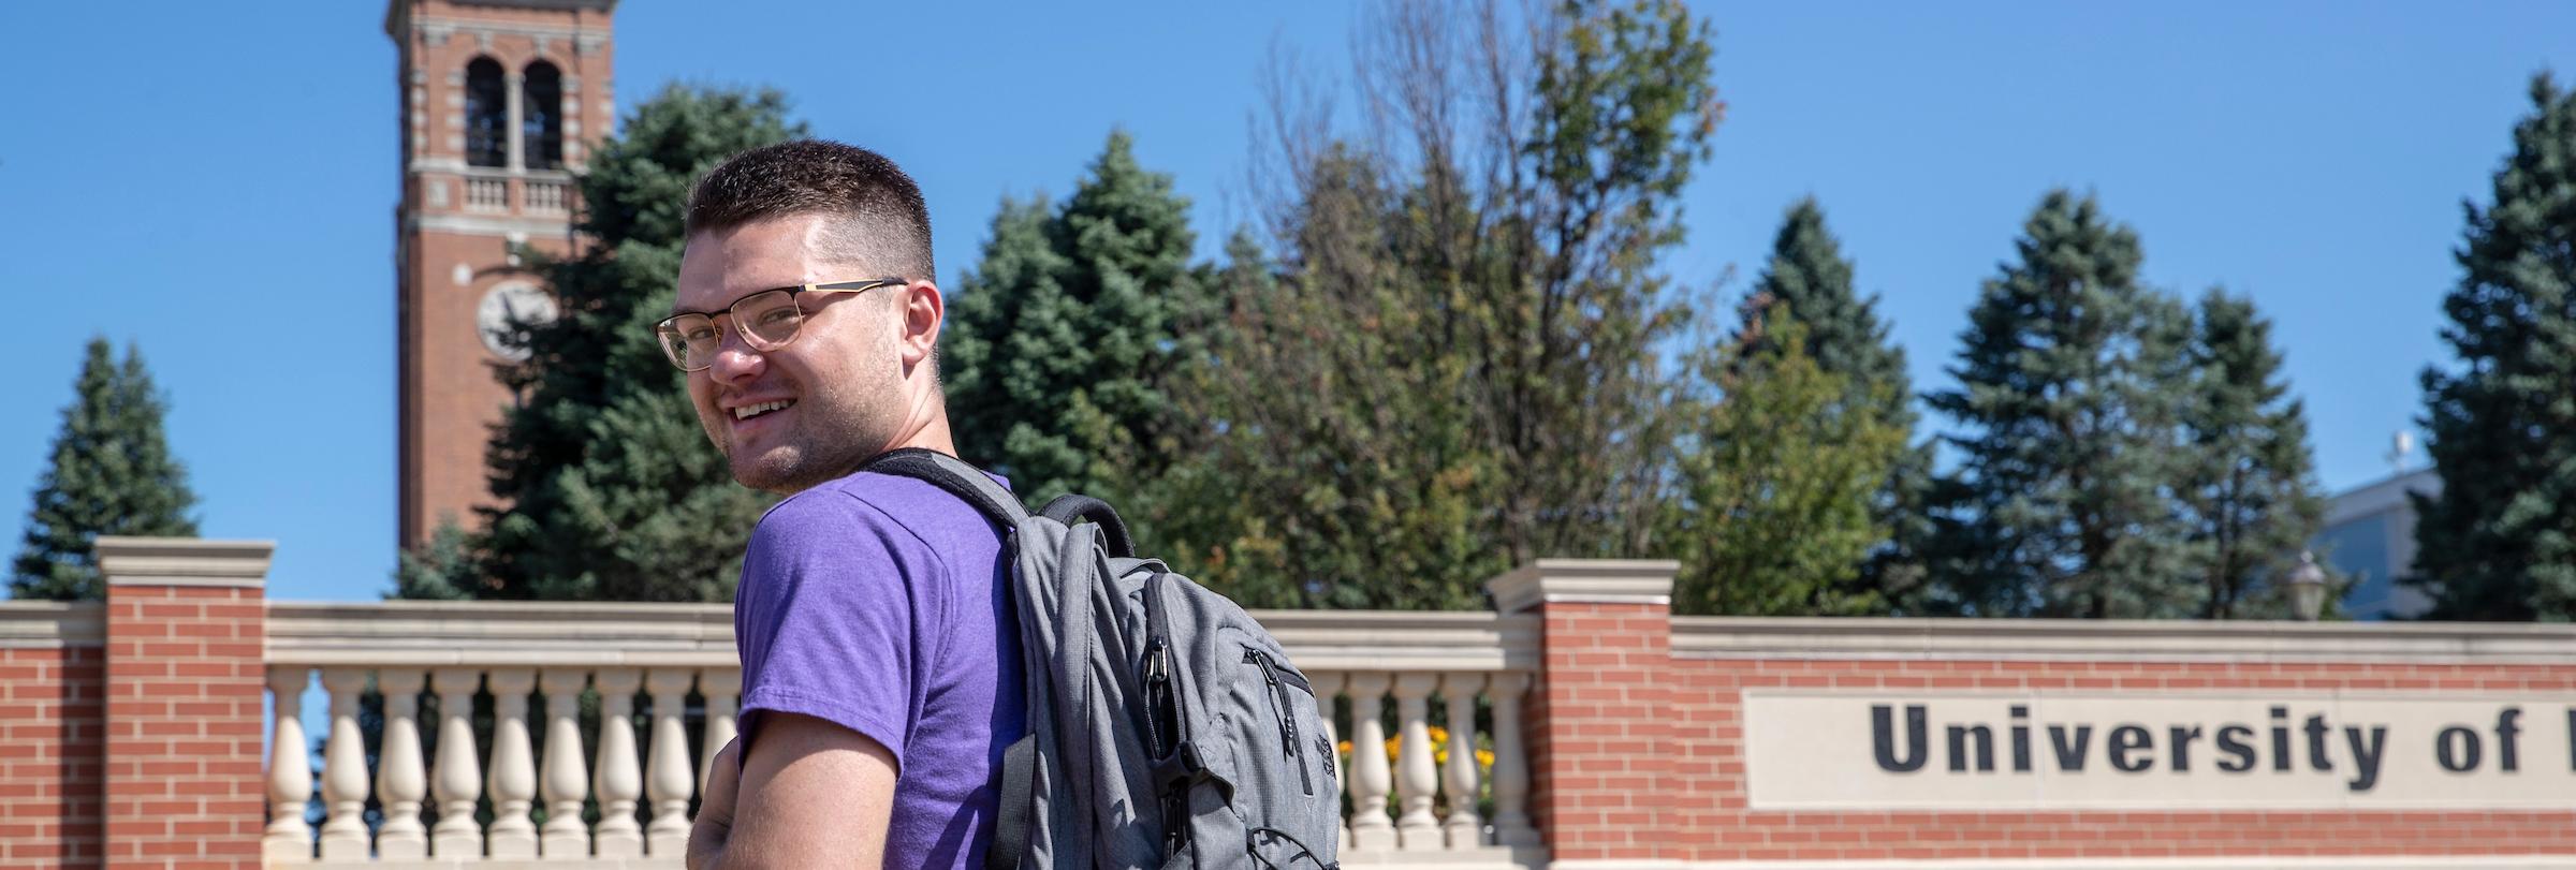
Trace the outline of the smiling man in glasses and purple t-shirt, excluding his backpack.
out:
[[[734,595],[742,736],[708,772],[688,865],[979,867],[1023,731],[999,533],[914,479],[956,453],[940,402],[930,214],[886,157],[737,154],[688,201],[657,337],[734,481],[786,499]]]

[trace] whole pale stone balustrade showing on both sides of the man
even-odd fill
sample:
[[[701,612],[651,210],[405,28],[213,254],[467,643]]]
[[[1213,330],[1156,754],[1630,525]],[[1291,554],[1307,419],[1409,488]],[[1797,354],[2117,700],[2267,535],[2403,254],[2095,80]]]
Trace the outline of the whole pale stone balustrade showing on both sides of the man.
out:
[[[1535,618],[1255,615],[1314,682],[1327,741],[1352,741],[1350,757],[1332,759],[1352,806],[1345,867],[1546,862],[1528,816],[1520,728],[1538,664]],[[742,690],[724,605],[278,602],[268,667],[278,746],[307,746],[299,713],[309,680],[319,674],[330,692],[319,775],[296,764],[301,752],[281,749],[265,780],[263,855],[317,867],[680,867],[690,801],[737,734]],[[374,770],[358,731],[368,687],[386,692]],[[477,710],[479,690],[489,698]],[[577,716],[585,692],[600,713],[592,734]],[[703,700],[696,710],[693,695]],[[422,698],[435,700],[435,734]],[[533,698],[544,698],[541,721],[531,718]],[[1334,716],[1334,698],[1350,700],[1350,716]],[[474,734],[477,713],[489,718],[489,746]],[[693,723],[698,741],[688,739]],[[1448,744],[1435,744],[1435,723]],[[1383,752],[1388,736],[1396,752]],[[1476,749],[1492,752],[1492,770]],[[1443,752],[1448,764],[1435,762]],[[307,824],[317,790],[319,826]],[[384,808],[374,829],[361,816],[368,798]],[[585,806],[600,821],[585,824]],[[477,808],[489,811],[487,826]]]

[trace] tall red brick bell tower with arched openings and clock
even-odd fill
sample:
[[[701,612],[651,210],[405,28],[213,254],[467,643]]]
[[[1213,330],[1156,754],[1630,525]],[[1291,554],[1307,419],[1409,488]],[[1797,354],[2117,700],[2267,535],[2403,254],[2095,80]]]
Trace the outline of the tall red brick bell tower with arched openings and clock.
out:
[[[402,538],[489,504],[484,445],[518,402],[495,363],[510,319],[554,317],[510,255],[567,255],[574,172],[611,131],[616,0],[392,0],[402,93],[394,283],[402,386]]]

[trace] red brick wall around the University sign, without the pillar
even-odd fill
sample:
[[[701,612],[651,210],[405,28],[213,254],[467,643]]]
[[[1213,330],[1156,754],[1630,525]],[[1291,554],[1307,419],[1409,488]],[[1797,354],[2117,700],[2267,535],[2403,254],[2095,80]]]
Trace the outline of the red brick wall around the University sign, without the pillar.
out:
[[[2509,690],[2576,692],[2576,667],[2342,662],[1672,662],[1677,860],[2069,860],[2576,855],[2568,811],[1752,811],[1744,690]]]

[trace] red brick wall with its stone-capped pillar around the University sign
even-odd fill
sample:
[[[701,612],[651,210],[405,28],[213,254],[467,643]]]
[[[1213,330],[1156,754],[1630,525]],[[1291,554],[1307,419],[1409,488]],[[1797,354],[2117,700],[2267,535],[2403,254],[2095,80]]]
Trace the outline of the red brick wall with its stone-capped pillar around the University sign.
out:
[[[1543,625],[1525,731],[1530,808],[1558,865],[2576,865],[2576,801],[2512,811],[2192,811],[2179,798],[2141,798],[2154,803],[2146,811],[1785,811],[1754,808],[1747,772],[1747,690],[1873,700],[2081,695],[2154,705],[2282,692],[2558,705],[2576,698],[2576,633],[2566,628],[1677,620],[1667,605],[1669,574],[1654,582],[1667,566],[1540,561],[1492,584],[1502,613],[1535,610]],[[1808,734],[1795,731],[1801,723],[1783,728]],[[2535,746],[2524,777],[2568,775],[2537,757]],[[1767,757],[1765,770],[1816,777],[1795,757]],[[1870,785],[1857,790],[1855,803],[1893,803]],[[2494,801],[2506,806],[2501,793]]]

